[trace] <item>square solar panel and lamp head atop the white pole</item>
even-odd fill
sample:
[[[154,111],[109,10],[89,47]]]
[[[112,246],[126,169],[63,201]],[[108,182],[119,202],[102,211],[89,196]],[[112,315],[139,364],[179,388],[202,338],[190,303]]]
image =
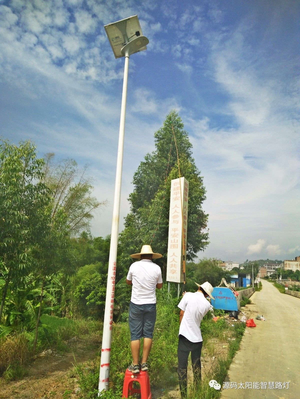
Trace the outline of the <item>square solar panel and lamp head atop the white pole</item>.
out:
[[[147,49],[149,40],[142,34],[137,15],[105,25],[104,29],[116,58],[124,57],[126,53],[131,55]],[[132,44],[126,47],[130,43]]]

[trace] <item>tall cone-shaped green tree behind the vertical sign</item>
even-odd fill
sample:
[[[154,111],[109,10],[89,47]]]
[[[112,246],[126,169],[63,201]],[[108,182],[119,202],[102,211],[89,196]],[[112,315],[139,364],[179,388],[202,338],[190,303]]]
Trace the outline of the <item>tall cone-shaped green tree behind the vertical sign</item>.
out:
[[[163,254],[158,264],[166,271],[168,246],[170,186],[179,177],[176,137],[180,162],[180,175],[189,182],[187,260],[196,257],[208,245],[205,231],[208,215],[202,209],[206,190],[200,171],[192,158],[192,144],[178,113],[171,111],[163,126],[154,133],[155,150],[146,154],[133,176],[134,190],[129,196],[130,213],[120,233],[120,260],[129,267],[130,254],[138,252],[142,244],[150,244],[155,252]]]

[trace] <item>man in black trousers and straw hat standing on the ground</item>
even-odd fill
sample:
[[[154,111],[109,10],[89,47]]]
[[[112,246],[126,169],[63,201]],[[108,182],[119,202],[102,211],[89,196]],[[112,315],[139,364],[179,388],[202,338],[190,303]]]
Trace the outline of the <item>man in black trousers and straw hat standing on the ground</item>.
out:
[[[197,283],[196,283],[197,284]],[[202,335],[200,323],[208,310],[210,302],[206,298],[214,299],[211,295],[213,287],[206,281],[204,284],[197,284],[197,292],[185,292],[178,304],[179,333],[178,333],[178,379],[181,397],[187,396],[188,389],[188,355],[191,352],[192,369],[194,374],[194,385],[201,381],[201,350]]]

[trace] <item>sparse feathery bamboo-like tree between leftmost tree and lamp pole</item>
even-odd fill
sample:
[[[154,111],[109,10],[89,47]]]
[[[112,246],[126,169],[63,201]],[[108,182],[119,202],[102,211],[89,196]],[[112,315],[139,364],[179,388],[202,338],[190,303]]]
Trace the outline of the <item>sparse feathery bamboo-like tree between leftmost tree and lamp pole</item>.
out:
[[[73,159],[53,162],[54,154],[45,155],[43,182],[52,190],[52,216],[61,207],[67,215],[68,231],[72,235],[84,229],[89,229],[92,212],[106,205],[107,201],[99,202],[92,197],[92,179],[86,178],[86,169],[78,169]]]

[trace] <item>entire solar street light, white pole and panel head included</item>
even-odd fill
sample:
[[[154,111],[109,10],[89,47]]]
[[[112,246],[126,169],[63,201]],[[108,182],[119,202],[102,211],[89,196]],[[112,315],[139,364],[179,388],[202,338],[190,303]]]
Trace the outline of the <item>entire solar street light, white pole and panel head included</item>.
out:
[[[134,15],[121,21],[104,26],[112,51],[116,58],[125,57],[124,80],[121,103],[119,144],[117,156],[116,183],[114,191],[114,208],[112,215],[112,233],[110,238],[110,253],[106,286],[102,350],[100,360],[98,395],[108,389],[110,371],[110,347],[112,341],[112,318],[114,313],[114,289],[116,282],[116,262],[118,248],[118,232],[120,217],[120,196],[122,181],[122,163],[124,147],[124,128],[126,111],[126,94],[128,80],[128,63],[130,55],[146,50],[149,40],[142,35],[138,16]]]

